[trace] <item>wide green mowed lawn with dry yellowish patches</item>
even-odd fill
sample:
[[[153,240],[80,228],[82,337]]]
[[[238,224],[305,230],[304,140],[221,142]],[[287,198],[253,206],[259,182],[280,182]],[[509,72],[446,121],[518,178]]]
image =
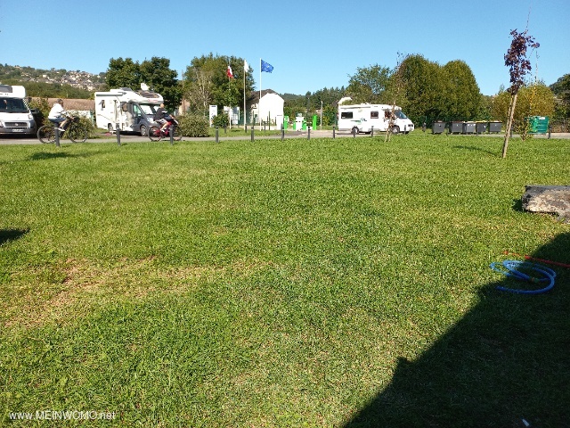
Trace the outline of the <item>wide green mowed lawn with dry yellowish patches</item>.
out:
[[[501,147],[0,146],[2,425],[570,424],[569,269],[528,296],[489,268],[570,263],[520,204],[570,185],[570,140]]]

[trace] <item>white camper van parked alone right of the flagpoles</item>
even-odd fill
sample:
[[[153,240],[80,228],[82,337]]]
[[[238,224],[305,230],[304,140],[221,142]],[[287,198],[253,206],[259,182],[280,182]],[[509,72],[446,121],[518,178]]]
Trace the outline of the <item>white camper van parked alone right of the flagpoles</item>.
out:
[[[370,133],[375,131],[386,131],[390,124],[393,106],[389,104],[347,104],[338,105],[338,130],[351,131],[355,133]],[[394,107],[394,117],[392,118],[392,132],[398,134],[403,132],[408,134],[413,131],[413,123],[403,114],[400,107]]]

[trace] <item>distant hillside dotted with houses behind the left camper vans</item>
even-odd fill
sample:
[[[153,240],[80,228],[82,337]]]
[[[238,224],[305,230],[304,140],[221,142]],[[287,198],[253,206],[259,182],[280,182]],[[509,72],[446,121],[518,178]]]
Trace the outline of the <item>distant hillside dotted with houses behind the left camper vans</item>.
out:
[[[27,92],[42,92],[43,84],[55,85],[93,93],[105,86],[105,73],[92,74],[80,70],[41,70],[20,65],[0,64],[0,82],[4,84],[20,84],[26,86]],[[45,91],[44,91],[45,92]],[[50,91],[47,91],[50,92]],[[28,94],[31,96],[45,96],[50,94]],[[84,96],[74,97],[83,98]]]

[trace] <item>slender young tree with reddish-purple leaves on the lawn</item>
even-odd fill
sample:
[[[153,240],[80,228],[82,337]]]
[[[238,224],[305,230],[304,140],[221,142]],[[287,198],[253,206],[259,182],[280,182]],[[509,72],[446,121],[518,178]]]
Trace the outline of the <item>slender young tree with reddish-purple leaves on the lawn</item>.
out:
[[[518,91],[525,84],[525,75],[532,69],[531,62],[526,59],[526,51],[529,47],[536,49],[540,45],[534,41],[534,37],[527,35],[527,29],[519,33],[517,29],[513,29],[510,35],[513,37],[509,50],[505,54],[505,65],[509,67],[510,73],[510,105],[509,119],[507,121],[507,129],[505,131],[505,141],[502,145],[502,157],[507,157],[507,147],[509,146],[510,130],[513,127],[513,117],[515,115],[515,107],[517,106]]]

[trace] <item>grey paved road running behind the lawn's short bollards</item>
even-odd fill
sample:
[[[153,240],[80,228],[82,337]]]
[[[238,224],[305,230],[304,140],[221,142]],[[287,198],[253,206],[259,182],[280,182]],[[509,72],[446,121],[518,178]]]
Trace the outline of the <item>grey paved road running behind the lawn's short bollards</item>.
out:
[[[256,133],[258,133],[259,131],[256,131]],[[381,133],[384,134],[384,133]],[[430,132],[428,131],[427,134],[430,134]],[[376,134],[376,136],[378,136],[379,134]],[[353,135],[348,133],[348,132],[339,132],[336,131],[335,132],[335,136],[338,138],[353,138]],[[445,137],[446,135],[441,135],[443,137]],[[450,136],[452,138],[469,138],[472,137],[474,135],[454,135],[454,136]],[[489,137],[503,137],[504,134],[481,134],[480,136],[489,136]],[[305,132],[297,132],[297,131],[287,131],[285,133],[285,138],[307,138],[308,137],[308,133]],[[364,138],[364,137],[370,137],[370,135],[366,135],[366,134],[360,134],[357,136],[358,138]],[[405,136],[400,136],[400,137],[404,137]],[[440,137],[440,136],[436,136],[436,137]],[[515,138],[517,137],[516,135],[514,136]],[[259,139],[280,139],[281,135],[277,135],[277,136],[262,136],[262,135],[258,135],[256,134],[255,139],[259,140]],[[311,138],[332,138],[332,131],[319,131],[319,130],[312,130],[311,131]],[[547,139],[548,135],[540,135],[540,136],[534,136],[534,138],[539,138],[539,139]],[[563,139],[568,139],[570,138],[570,133],[556,133],[556,134],[552,134],[551,138],[563,138]],[[224,136],[223,132],[220,132],[219,134],[219,141],[232,141],[232,140],[249,140],[251,139],[251,133],[248,130],[248,132],[244,132],[242,136]],[[188,137],[188,136],[184,136],[183,137],[183,141],[213,141],[215,140],[215,137],[210,136],[210,137]],[[168,142],[169,140],[164,140],[165,142]],[[134,143],[134,142],[148,142],[150,143],[150,140],[148,137],[145,136],[136,136],[136,135],[126,135],[126,134],[121,134],[121,143]],[[69,144],[69,140],[67,139],[63,139],[61,140],[61,144]],[[108,136],[100,136],[98,138],[93,138],[93,139],[88,139],[86,141],[86,143],[117,143],[117,137],[114,135],[108,135]],[[42,144],[39,142],[39,140],[37,138],[32,138],[29,136],[3,136],[0,135],[0,145],[10,145],[10,144]]]

